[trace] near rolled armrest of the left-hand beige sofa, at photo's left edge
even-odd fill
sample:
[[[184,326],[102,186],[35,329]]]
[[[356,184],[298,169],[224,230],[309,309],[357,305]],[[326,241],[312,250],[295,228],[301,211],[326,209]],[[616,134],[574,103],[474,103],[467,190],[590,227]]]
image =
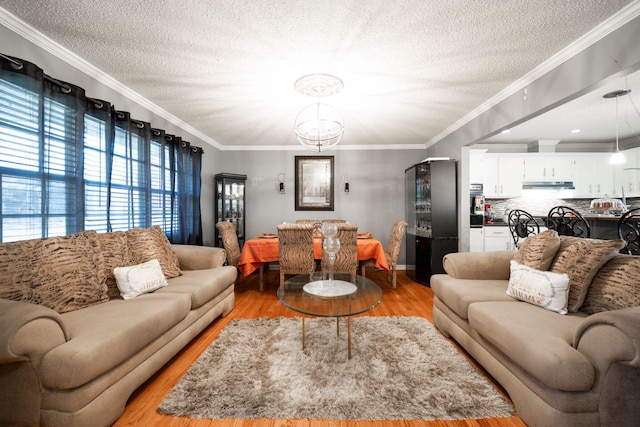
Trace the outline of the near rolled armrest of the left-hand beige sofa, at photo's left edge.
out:
[[[60,314],[50,308],[0,299],[0,364],[39,363],[47,351],[69,339]]]

